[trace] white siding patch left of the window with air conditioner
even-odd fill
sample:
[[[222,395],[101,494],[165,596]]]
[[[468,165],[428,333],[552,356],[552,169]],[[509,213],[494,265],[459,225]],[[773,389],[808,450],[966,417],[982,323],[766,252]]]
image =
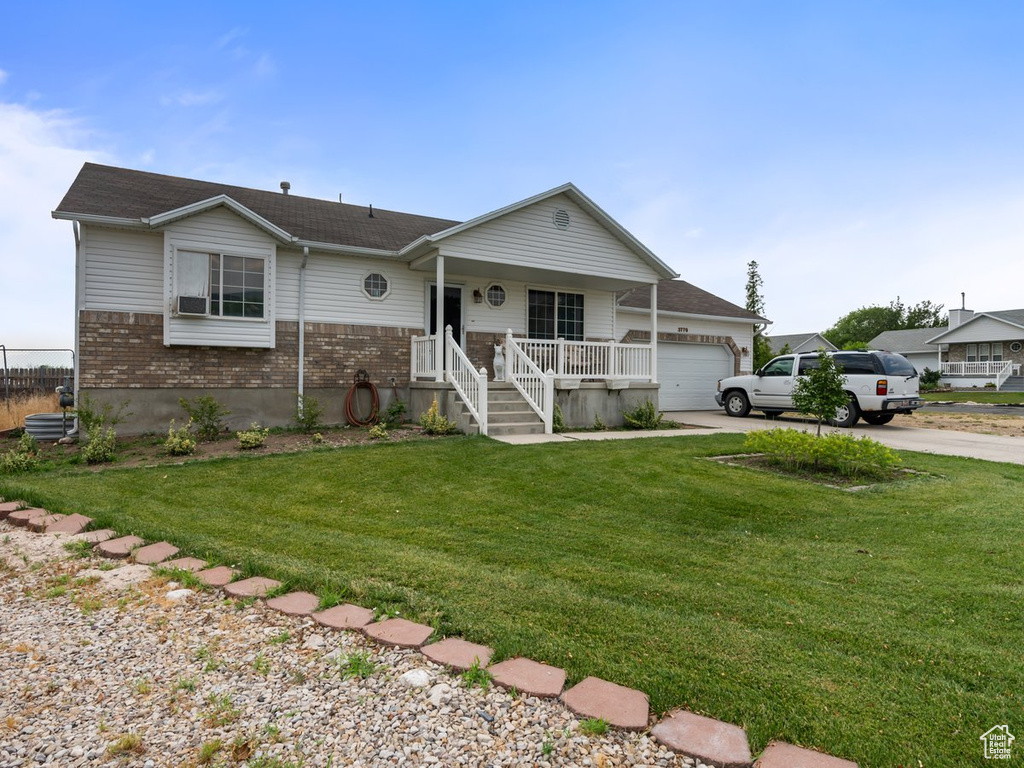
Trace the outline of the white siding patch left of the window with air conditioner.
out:
[[[81,308],[115,312],[164,311],[164,237],[82,227],[85,296]]]

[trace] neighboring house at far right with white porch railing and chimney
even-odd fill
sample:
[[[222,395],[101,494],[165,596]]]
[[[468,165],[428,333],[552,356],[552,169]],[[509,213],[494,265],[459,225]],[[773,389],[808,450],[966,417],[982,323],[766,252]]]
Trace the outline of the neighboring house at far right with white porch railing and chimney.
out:
[[[1024,366],[1024,309],[977,312],[950,309],[949,326],[928,342],[943,344],[942,379],[954,387],[1009,383],[1015,389]],[[1014,379],[1014,381],[1010,381]]]

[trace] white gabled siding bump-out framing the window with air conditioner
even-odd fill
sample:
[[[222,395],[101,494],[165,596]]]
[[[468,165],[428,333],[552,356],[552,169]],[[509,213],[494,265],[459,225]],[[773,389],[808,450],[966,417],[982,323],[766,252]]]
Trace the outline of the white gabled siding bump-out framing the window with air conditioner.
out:
[[[174,311],[178,253],[219,253],[262,259],[264,316],[186,317]],[[276,243],[267,233],[226,208],[181,219],[164,230],[164,343],[190,346],[270,347],[275,343],[274,272]]]

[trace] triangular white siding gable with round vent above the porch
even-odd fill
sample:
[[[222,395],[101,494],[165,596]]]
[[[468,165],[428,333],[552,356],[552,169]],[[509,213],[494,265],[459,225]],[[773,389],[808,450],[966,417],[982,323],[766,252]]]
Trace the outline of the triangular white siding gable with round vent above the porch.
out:
[[[569,213],[571,223],[567,229],[555,226],[556,210]],[[648,283],[659,278],[633,250],[564,195],[452,236],[440,247],[446,256],[524,268]]]

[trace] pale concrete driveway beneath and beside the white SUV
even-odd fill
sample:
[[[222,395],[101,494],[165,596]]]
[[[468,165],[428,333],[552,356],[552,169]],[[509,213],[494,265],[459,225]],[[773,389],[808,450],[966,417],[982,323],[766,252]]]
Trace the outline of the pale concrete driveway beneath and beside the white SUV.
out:
[[[666,414],[666,417],[683,424],[723,432],[749,432],[752,429],[772,429],[773,427],[814,429],[814,423],[807,420],[791,416],[768,420],[757,412],[752,412],[750,416],[742,419],[726,416],[724,411],[680,411]],[[828,428],[830,429],[830,427]],[[857,426],[849,431],[857,437],[867,435],[872,440],[903,451],[920,451],[924,454],[963,456],[990,462],[1024,464],[1024,438],[1022,437],[920,429],[918,427],[894,427],[891,424],[872,427],[863,422],[858,422]]]

